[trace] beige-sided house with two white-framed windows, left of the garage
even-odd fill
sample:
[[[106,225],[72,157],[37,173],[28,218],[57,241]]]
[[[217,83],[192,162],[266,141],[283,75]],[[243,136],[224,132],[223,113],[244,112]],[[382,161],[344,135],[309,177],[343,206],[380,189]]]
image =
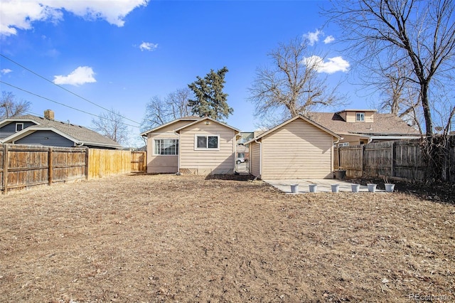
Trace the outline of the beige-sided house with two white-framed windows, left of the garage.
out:
[[[148,173],[233,174],[240,131],[210,117],[183,117],[141,133]]]

